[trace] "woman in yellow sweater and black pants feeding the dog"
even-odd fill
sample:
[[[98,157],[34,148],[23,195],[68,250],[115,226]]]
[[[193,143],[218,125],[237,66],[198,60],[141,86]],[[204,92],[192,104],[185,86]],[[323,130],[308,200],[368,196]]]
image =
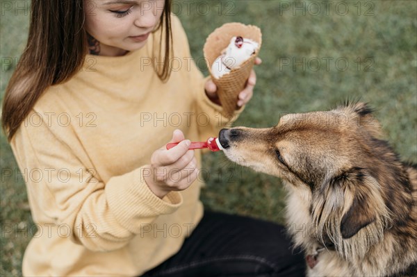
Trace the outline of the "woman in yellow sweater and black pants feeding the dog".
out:
[[[32,1],[2,113],[19,168],[31,172],[38,233],[24,275],[303,272],[281,226],[203,213],[201,157],[188,145],[230,122],[214,83],[190,60],[170,4]],[[174,60],[183,61],[179,70]],[[238,106],[254,83],[252,72]],[[166,150],[167,142],[180,143]]]

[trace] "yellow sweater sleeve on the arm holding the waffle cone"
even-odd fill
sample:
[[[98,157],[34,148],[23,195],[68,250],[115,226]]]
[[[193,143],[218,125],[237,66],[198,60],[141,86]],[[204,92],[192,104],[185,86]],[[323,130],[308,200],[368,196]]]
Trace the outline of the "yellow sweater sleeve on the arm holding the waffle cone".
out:
[[[234,115],[229,118],[222,115],[222,106],[213,103],[208,99],[208,96],[204,91],[204,85],[211,77],[207,76],[204,78],[202,72],[199,71],[195,61],[192,59],[188,38],[179,19],[173,17],[172,21],[173,26],[177,26],[177,28],[175,28],[176,32],[174,33],[174,40],[177,40],[177,42],[174,42],[174,47],[181,47],[183,57],[186,57],[184,60],[190,60],[187,64],[187,72],[189,74],[188,80],[190,80],[190,87],[195,99],[197,116],[204,116],[209,119],[207,120],[209,124],[199,126],[200,139],[206,140],[208,137],[216,136],[222,128],[230,127],[231,124],[236,121],[240,113],[243,112],[245,106],[236,110]]]

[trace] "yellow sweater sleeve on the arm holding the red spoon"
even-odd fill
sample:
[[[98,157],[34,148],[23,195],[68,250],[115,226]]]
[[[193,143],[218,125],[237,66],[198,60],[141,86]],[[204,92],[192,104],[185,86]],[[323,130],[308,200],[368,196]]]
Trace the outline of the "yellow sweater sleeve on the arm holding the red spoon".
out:
[[[73,150],[82,147],[64,142],[46,124],[24,125],[11,144],[21,172],[41,173],[41,178],[31,174],[25,180],[31,208],[40,209],[39,221],[70,226],[72,240],[91,251],[121,248],[140,233],[142,224],[181,205],[179,192],[159,199],[149,190],[145,166],[104,183]]]

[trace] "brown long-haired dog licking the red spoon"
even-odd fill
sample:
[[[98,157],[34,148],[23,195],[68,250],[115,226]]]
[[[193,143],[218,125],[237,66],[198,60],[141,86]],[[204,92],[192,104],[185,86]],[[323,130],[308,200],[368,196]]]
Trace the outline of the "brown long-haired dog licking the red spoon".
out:
[[[307,276],[417,276],[417,167],[401,162],[366,103],[222,129],[229,160],[277,176]]]

